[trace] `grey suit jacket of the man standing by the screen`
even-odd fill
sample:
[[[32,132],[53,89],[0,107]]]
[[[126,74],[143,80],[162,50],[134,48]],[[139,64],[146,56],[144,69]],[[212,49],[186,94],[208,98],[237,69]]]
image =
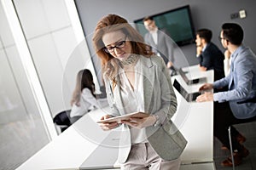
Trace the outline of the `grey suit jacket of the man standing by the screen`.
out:
[[[160,52],[166,64],[168,61],[174,62],[172,38],[168,36],[165,30],[157,31],[157,44],[154,43],[154,39],[149,32],[145,34],[144,41],[152,47],[155,54]]]

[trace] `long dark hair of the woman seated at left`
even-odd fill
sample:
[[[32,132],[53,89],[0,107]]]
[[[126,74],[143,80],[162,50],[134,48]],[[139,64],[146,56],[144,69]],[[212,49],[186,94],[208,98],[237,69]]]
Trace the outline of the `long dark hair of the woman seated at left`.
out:
[[[80,96],[81,96],[84,88],[89,88],[90,93],[94,97],[96,97],[96,95],[94,94],[95,85],[93,82],[93,77],[92,77],[90,70],[88,70],[88,69],[79,71],[79,73],[77,75],[77,82],[76,82],[76,86],[73,91],[73,98],[71,100],[71,105],[73,105],[73,104],[80,105]]]

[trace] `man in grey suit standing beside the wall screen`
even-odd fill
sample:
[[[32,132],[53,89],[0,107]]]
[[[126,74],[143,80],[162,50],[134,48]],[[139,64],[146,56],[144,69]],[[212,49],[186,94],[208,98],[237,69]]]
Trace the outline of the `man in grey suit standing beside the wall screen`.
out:
[[[148,30],[144,37],[144,41],[151,47],[151,50],[162,57],[168,68],[173,68],[173,43],[171,37],[168,36],[165,30],[160,30],[155,26],[152,17],[143,19],[145,28]],[[174,68],[173,68],[174,69]]]

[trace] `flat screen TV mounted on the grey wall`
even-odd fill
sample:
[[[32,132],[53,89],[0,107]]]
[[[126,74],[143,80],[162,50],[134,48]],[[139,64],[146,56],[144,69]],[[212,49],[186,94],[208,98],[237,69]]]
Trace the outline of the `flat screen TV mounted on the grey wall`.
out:
[[[189,5],[175,8],[160,14],[151,15],[159,29],[165,29],[178,46],[193,43],[195,30],[190,14]],[[148,32],[143,26],[143,19],[134,20],[137,31],[144,35]]]

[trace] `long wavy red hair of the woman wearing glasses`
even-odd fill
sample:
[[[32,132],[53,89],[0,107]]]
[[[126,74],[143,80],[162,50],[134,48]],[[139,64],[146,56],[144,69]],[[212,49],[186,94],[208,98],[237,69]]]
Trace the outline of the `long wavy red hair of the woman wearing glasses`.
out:
[[[102,72],[115,84],[115,77],[119,71],[119,61],[104,51],[105,45],[102,42],[104,34],[113,31],[122,31],[131,42],[131,54],[142,54],[145,57],[152,55],[150,48],[144,43],[143,37],[125,20],[116,14],[108,14],[96,25],[92,37],[96,54],[102,59]]]

